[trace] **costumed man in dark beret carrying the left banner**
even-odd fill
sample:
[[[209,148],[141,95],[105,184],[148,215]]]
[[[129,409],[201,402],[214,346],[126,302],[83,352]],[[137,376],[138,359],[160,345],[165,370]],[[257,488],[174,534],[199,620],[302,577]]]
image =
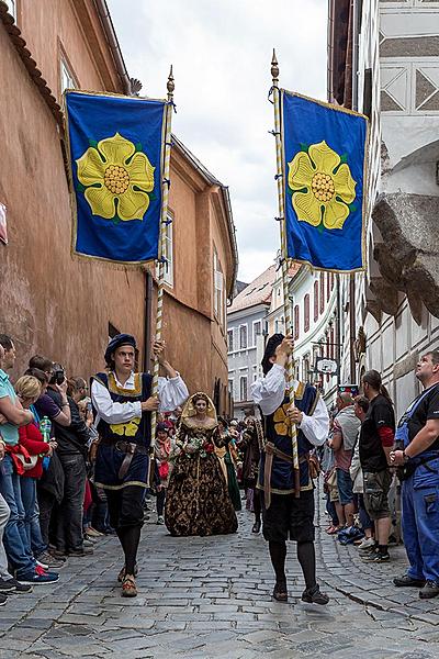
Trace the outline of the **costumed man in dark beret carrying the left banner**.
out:
[[[166,360],[165,344],[154,344],[154,355],[167,378],[159,378],[158,396],[151,396],[153,377],[134,372],[136,340],[119,334],[108,345],[109,373],[91,380],[91,400],[100,442],[94,483],[106,493],[110,522],[121,541],[125,565],[119,580],[122,594],[135,596],[136,555],[144,521],[150,446],[150,413],[172,411],[188,398],[180,375]]]

